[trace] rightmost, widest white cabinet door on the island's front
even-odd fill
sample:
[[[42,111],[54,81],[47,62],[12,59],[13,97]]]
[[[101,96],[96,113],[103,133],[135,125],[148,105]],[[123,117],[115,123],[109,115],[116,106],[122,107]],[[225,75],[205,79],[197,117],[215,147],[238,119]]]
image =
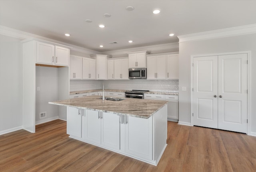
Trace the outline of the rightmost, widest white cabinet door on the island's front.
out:
[[[126,153],[152,160],[153,158],[153,122],[148,119],[126,117]]]

